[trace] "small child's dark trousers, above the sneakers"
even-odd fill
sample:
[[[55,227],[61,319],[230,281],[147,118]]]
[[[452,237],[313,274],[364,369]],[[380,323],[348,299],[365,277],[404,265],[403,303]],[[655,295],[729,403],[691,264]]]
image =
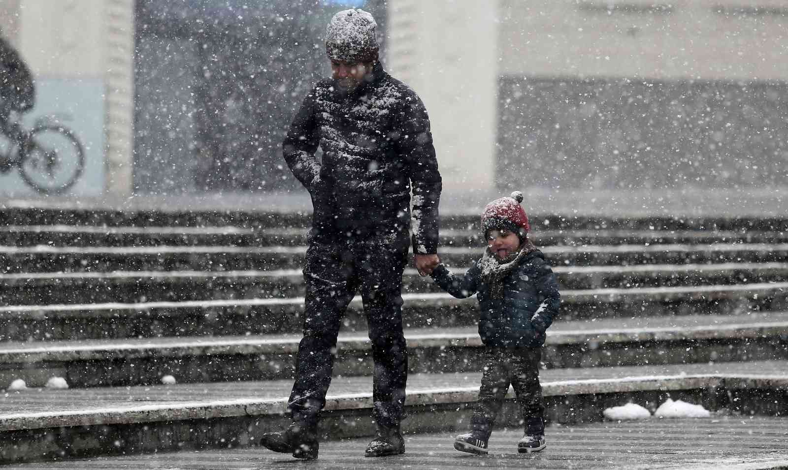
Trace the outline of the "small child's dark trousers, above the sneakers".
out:
[[[470,419],[472,431],[481,432],[489,439],[511,383],[525,421],[526,434],[545,434],[545,405],[539,383],[540,361],[541,348],[485,347],[479,398]]]

